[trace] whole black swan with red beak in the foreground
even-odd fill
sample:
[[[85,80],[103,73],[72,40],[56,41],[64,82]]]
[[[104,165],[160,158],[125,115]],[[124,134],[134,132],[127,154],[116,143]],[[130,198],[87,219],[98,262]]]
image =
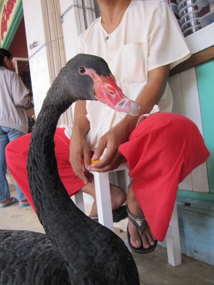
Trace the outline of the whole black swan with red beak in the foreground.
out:
[[[98,99],[136,115],[139,106],[121,96],[97,56],[78,54],[59,72],[37,117],[27,159],[31,195],[46,234],[0,231],[1,285],[139,285],[122,239],[87,217],[67,194],[54,153],[58,119],[74,101]]]

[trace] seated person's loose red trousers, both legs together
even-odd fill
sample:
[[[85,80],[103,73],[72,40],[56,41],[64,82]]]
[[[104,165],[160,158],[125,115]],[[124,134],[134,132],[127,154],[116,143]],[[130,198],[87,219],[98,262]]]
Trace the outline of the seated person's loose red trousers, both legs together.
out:
[[[55,133],[55,154],[61,180],[71,196],[85,184],[69,163],[69,139],[64,129]],[[30,134],[7,145],[9,170],[35,210],[30,195],[26,159]],[[194,168],[209,157],[197,126],[175,113],[156,113],[143,120],[129,141],[119,146],[127,159],[132,188],[153,235],[163,241],[171,219],[177,187]]]

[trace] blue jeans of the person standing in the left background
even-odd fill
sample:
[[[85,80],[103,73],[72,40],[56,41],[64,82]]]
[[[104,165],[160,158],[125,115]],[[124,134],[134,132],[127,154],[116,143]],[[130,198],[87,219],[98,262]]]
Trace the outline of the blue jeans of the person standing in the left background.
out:
[[[7,178],[5,175],[7,169],[7,163],[5,159],[5,148],[10,141],[25,135],[24,133],[8,128],[8,127],[1,127],[0,126],[0,203],[9,200],[10,198],[10,191],[7,182]],[[18,184],[15,182],[17,196],[19,201],[25,200],[25,195],[21,192]]]

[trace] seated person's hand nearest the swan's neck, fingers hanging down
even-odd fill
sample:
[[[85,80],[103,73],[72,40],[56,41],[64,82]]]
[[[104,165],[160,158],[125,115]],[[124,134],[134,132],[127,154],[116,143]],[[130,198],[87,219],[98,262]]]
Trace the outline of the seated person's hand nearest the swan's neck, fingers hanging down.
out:
[[[91,165],[91,149],[84,137],[77,134],[71,135],[70,140],[70,157],[69,161],[73,168],[74,173],[79,177],[85,184],[91,182],[85,176],[83,171],[82,158],[84,158],[84,166],[86,170],[89,170]]]

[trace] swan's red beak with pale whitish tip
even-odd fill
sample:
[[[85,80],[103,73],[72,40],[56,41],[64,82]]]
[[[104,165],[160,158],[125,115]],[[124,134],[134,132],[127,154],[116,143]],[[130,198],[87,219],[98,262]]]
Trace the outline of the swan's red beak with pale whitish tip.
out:
[[[137,116],[140,111],[140,106],[128,99],[117,86],[115,78],[112,74],[109,77],[99,75],[93,69],[87,69],[86,73],[91,76],[94,81],[94,97],[111,107],[112,109],[125,112],[133,116]]]

